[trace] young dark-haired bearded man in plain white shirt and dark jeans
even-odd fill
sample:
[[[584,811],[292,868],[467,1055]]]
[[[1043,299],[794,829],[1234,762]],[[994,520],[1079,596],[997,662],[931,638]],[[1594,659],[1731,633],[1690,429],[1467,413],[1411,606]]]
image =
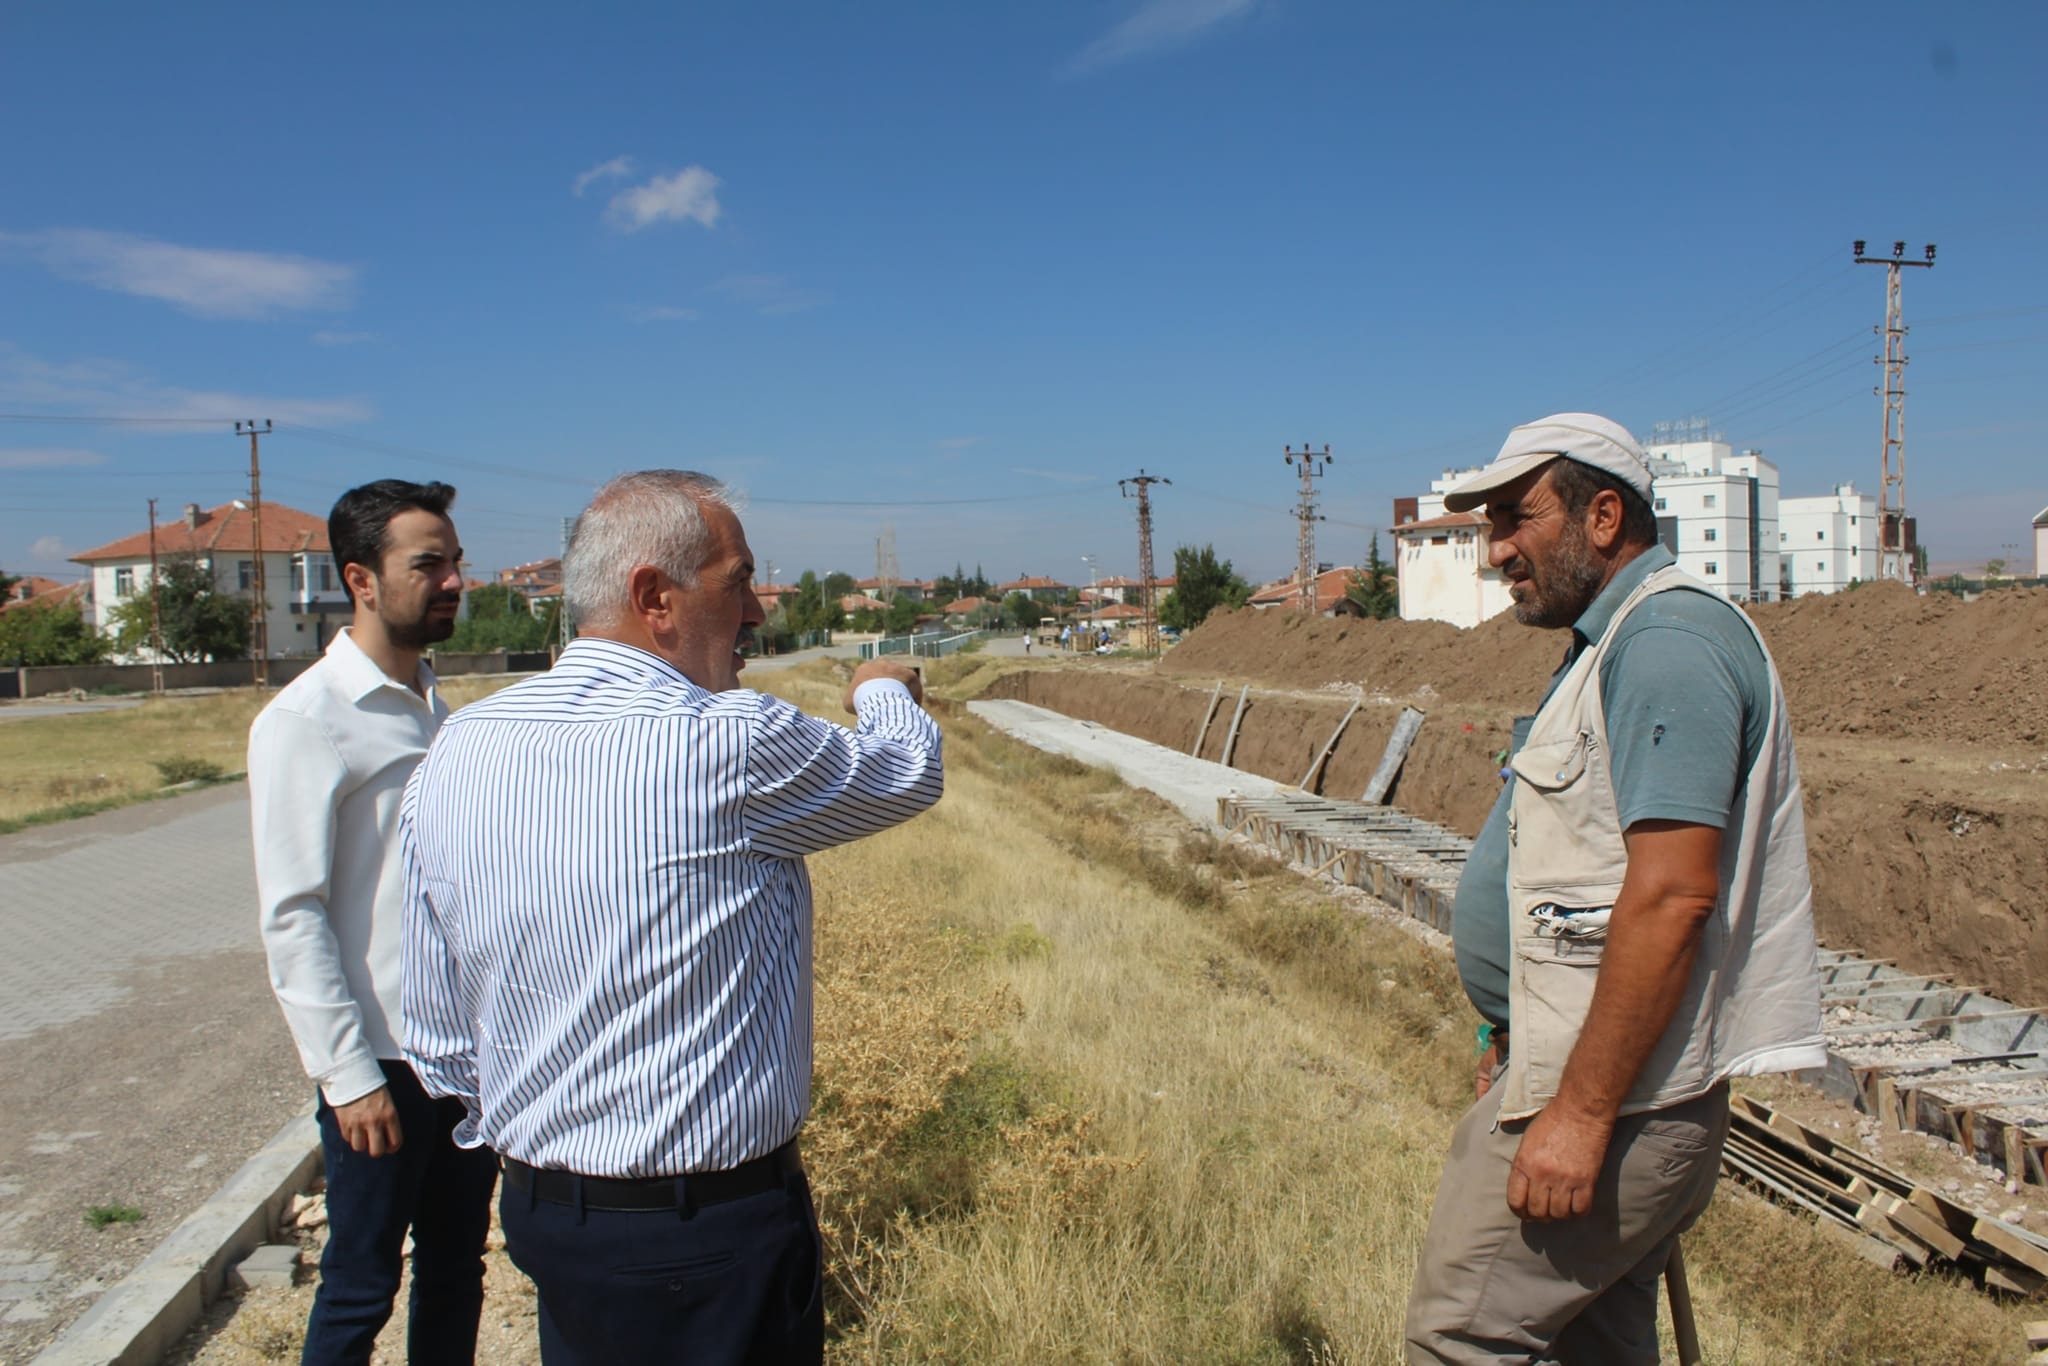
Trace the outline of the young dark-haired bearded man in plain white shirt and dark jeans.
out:
[[[379,479],[328,516],[354,623],[250,727],[270,985],[319,1087],[328,1249],[305,1366],[371,1360],[414,1239],[408,1358],[475,1358],[498,1163],[453,1141],[399,1049],[406,780],[449,715],[420,653],[455,633],[463,551],[446,483]]]

